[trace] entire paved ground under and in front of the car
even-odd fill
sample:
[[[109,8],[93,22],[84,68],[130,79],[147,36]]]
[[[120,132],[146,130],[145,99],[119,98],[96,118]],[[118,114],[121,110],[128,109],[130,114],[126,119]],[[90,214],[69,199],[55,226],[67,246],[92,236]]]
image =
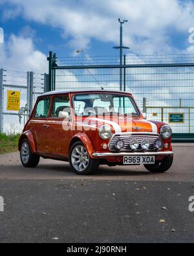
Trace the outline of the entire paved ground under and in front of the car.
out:
[[[0,242],[194,242],[194,145],[174,145],[164,174],[144,167],[100,167],[77,176],[69,163],[21,166],[0,156]]]

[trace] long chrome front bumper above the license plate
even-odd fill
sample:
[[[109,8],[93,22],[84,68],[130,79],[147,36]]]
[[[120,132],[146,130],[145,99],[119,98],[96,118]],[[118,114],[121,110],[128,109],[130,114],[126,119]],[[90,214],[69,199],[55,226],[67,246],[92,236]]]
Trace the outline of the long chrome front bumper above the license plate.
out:
[[[93,157],[109,157],[109,156],[172,156],[173,151],[160,152],[117,152],[117,153],[93,153]]]

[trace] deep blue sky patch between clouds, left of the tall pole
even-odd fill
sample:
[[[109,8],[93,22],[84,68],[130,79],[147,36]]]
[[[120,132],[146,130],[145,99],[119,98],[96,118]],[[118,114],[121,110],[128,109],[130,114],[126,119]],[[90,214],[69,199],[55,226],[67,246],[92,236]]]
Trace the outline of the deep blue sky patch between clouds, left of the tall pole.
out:
[[[3,5],[1,12],[6,10],[6,4]],[[117,18],[115,18],[117,21]],[[119,30],[119,23],[116,23],[117,29]],[[58,52],[59,56],[72,56],[76,49],[83,49],[85,54],[90,54],[94,56],[98,55],[116,55],[117,51],[113,49],[118,43],[110,43],[101,40],[91,38],[91,41],[87,47],[72,47],[70,45],[70,40],[72,37],[69,35],[63,38],[63,31],[59,28],[52,27],[50,25],[43,25],[35,21],[28,21],[22,16],[16,19],[2,19],[1,27],[4,29],[5,42],[9,40],[11,34],[23,35],[23,36],[33,36],[34,44],[39,51],[48,54],[48,51]]]

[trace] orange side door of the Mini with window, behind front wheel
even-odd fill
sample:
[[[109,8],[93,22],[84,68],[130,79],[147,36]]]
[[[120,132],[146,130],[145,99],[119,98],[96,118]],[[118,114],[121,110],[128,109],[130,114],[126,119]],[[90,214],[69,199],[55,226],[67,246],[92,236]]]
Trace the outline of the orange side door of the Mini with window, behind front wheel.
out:
[[[69,155],[69,141],[72,137],[71,132],[71,121],[69,119],[63,119],[59,117],[59,111],[70,111],[70,100],[69,95],[58,95],[52,98],[52,107],[50,111],[49,122],[49,141],[52,145],[52,150],[50,148],[51,154],[56,154],[58,156],[68,156]]]

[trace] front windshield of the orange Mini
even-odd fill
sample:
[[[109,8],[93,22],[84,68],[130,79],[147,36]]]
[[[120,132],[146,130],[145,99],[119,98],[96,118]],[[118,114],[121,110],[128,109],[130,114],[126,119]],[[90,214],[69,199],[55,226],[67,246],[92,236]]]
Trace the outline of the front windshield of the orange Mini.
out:
[[[94,93],[79,94],[73,98],[74,111],[78,116],[89,115],[136,115],[140,111],[132,97],[127,95]]]

